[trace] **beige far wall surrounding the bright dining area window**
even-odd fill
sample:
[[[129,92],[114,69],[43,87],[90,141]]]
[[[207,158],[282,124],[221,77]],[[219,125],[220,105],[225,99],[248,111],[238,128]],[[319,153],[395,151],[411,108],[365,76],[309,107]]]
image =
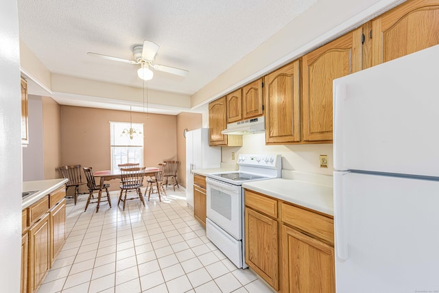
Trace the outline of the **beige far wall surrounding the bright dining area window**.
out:
[[[61,106],[61,165],[110,169],[109,121],[130,120],[120,110]],[[177,159],[176,116],[132,113],[133,123],[143,123],[144,164],[152,167],[164,160]],[[119,180],[110,181],[110,190],[119,190]],[[82,191],[86,191],[83,187]]]

